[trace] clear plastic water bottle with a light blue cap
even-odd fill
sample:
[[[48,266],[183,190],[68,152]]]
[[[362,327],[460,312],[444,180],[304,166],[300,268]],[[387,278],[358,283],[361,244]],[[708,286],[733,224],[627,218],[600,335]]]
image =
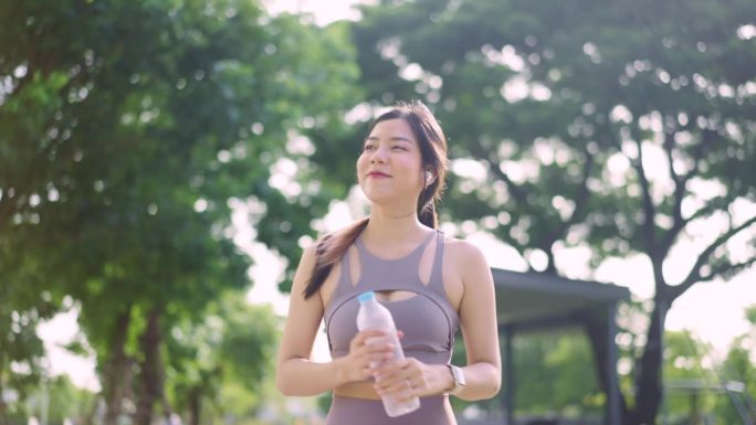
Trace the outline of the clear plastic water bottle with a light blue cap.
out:
[[[360,294],[357,299],[359,300],[359,311],[357,311],[357,329],[360,331],[382,330],[388,336],[388,342],[396,347],[393,350],[393,358],[389,361],[403,359],[405,352],[402,351],[401,343],[399,342],[399,336],[397,334],[397,328],[393,325],[391,311],[376,300],[376,293],[371,290]],[[368,341],[368,343],[370,341]],[[412,397],[403,403],[398,403],[396,400],[393,400],[393,397],[385,395],[381,397],[381,401],[384,402],[384,410],[386,411],[386,414],[391,417],[406,415],[420,408],[419,397]]]

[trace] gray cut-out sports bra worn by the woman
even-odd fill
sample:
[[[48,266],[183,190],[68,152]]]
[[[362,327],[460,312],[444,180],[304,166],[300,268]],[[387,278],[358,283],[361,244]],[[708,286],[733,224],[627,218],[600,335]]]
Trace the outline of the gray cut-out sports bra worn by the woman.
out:
[[[433,268],[428,285],[424,285],[419,277],[420,257],[433,236],[437,240]],[[381,301],[393,315],[397,329],[405,332],[401,339],[405,355],[429,364],[450,362],[460,318],[443,289],[443,240],[441,232],[432,232],[409,255],[398,259],[378,258],[370,254],[359,237],[356,240],[360,277],[356,285],[351,284],[347,252],[342,258],[337,286],[324,312],[332,358],[349,352],[349,342],[357,333],[359,294],[366,290],[407,290],[417,295],[396,301]]]

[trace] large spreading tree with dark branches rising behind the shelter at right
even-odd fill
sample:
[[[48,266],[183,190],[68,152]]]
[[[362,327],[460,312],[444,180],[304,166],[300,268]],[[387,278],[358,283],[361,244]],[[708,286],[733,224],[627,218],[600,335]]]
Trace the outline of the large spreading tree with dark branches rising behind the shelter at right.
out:
[[[739,206],[756,199],[753,2],[419,0],[363,12],[353,33],[368,107],[420,97],[448,131],[448,219],[476,223],[535,272],[569,274],[557,255],[569,247],[589,249],[594,267],[648,259],[653,308],[622,416],[653,423],[668,309],[756,259],[756,216]],[[711,231],[686,275],[671,274],[701,225]]]

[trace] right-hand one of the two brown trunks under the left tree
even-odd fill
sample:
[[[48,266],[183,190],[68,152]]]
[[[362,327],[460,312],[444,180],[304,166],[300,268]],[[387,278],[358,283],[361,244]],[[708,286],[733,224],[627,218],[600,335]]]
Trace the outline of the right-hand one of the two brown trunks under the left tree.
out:
[[[160,379],[160,310],[154,307],[147,316],[147,328],[139,339],[144,361],[139,364],[139,393],[136,425],[150,425],[155,404],[162,400]]]

